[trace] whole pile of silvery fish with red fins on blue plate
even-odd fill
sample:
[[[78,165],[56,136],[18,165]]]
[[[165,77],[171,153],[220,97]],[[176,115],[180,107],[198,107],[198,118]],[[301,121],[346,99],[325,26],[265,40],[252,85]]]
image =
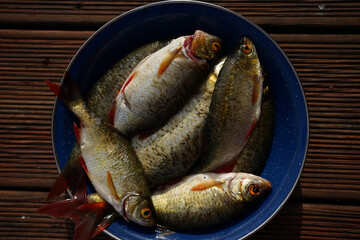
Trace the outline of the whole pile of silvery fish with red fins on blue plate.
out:
[[[77,139],[37,212],[75,222],[90,239],[118,218],[188,231],[241,215],[271,190],[273,102],[246,37],[227,57],[222,42],[193,35],[142,46],[83,98],[69,73],[50,89],[77,116]],[[87,194],[87,178],[96,193]]]

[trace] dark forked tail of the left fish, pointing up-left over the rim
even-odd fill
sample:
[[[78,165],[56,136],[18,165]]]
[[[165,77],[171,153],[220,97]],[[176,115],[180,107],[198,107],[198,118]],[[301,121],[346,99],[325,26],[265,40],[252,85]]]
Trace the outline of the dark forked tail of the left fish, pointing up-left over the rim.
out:
[[[64,74],[64,84],[66,88],[61,87],[60,85],[45,80],[46,84],[49,86],[50,90],[55,93],[55,95],[60,98],[60,100],[78,117],[81,119],[81,116],[84,113],[85,102],[83,97],[77,87],[75,81],[70,76],[68,71],[65,71]]]

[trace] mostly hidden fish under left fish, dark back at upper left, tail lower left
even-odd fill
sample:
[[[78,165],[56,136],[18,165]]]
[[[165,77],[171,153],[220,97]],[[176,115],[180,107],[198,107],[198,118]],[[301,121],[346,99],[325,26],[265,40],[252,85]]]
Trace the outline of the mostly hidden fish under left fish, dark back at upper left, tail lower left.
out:
[[[85,96],[86,105],[99,119],[109,122],[109,111],[113,106],[118,89],[123,85],[127,76],[141,60],[168,43],[168,40],[154,41],[136,48],[120,59],[90,89]],[[79,144],[75,141],[66,165],[49,191],[47,201],[55,199],[66,190],[69,194],[71,194],[71,190],[77,191],[79,174],[84,174],[78,161],[80,155]]]

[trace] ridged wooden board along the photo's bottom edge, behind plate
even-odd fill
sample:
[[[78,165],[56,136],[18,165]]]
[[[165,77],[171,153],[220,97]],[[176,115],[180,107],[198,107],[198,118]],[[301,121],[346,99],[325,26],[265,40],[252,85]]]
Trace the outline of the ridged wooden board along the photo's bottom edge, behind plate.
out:
[[[0,238],[71,239],[71,221],[34,213],[45,204],[45,198],[44,192],[0,191]],[[358,239],[359,216],[357,205],[290,201],[250,239]],[[95,239],[111,238],[102,234]]]

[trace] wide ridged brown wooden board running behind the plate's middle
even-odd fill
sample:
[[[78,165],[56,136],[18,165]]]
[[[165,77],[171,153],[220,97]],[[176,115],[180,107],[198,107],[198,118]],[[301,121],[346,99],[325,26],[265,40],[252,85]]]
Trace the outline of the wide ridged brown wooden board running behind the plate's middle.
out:
[[[0,164],[11,166],[0,167],[2,186],[48,189],[56,178],[50,136],[54,95],[43,80],[59,81],[91,34],[0,30]],[[271,36],[293,62],[308,101],[310,140],[301,196],[360,199],[359,188],[353,187],[360,181],[360,69],[354,61],[360,56],[360,36]],[[339,44],[351,54],[339,54]],[[34,162],[37,167],[30,171]],[[39,181],[41,176],[44,181]]]

